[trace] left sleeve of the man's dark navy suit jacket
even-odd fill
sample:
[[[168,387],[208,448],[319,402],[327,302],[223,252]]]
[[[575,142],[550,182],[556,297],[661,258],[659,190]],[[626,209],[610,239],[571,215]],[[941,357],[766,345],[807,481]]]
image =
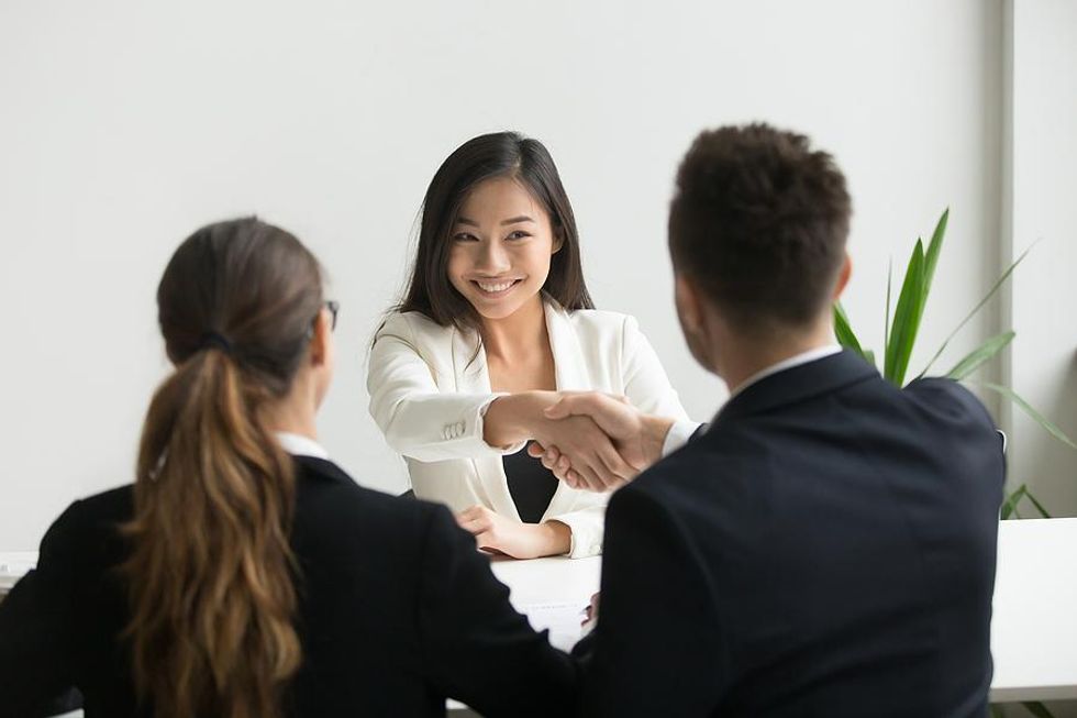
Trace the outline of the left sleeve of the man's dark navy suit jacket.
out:
[[[729,676],[712,592],[676,519],[635,486],[606,518],[598,623],[581,660],[585,716],[708,716]]]

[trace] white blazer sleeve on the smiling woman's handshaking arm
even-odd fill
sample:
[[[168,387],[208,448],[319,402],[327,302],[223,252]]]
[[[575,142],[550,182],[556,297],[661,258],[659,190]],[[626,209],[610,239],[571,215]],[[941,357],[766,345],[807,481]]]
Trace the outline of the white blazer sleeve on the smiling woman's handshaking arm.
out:
[[[501,394],[443,393],[435,371],[423,358],[409,318],[390,314],[370,350],[367,391],[370,416],[393,451],[434,462],[500,456],[523,448],[496,448],[482,438],[486,410]]]

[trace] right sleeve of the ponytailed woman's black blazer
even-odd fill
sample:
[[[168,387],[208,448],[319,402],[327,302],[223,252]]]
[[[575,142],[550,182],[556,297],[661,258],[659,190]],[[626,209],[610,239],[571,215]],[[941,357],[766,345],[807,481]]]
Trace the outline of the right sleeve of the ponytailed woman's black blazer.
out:
[[[429,680],[484,716],[566,716],[574,660],[509,604],[490,561],[444,507],[431,510],[420,575],[419,630]]]

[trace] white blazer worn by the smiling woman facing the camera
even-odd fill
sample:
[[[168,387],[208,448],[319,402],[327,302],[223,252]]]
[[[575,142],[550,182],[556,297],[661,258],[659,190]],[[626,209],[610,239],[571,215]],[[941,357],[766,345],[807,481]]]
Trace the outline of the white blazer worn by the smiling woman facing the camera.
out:
[[[641,410],[687,420],[651,344],[632,317],[565,311],[545,302],[557,389],[624,395]],[[477,504],[517,520],[501,462],[520,451],[490,446],[482,417],[493,399],[486,352],[475,332],[440,327],[420,312],[392,313],[370,351],[370,416],[402,454],[415,496],[460,511]],[[573,557],[602,552],[607,494],[560,483],[543,521],[566,523]]]

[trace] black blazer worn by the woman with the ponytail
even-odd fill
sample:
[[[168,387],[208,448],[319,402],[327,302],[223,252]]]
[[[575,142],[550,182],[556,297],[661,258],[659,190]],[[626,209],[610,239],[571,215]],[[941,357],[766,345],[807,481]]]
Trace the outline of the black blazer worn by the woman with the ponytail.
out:
[[[291,716],[442,716],[445,698],[484,715],[570,710],[576,673],[508,601],[475,540],[447,509],[356,485],[298,457],[303,665]],[[132,488],[75,502],[48,530],[37,570],[0,603],[0,716],[34,715],[68,686],[86,717],[135,709],[115,526]]]

